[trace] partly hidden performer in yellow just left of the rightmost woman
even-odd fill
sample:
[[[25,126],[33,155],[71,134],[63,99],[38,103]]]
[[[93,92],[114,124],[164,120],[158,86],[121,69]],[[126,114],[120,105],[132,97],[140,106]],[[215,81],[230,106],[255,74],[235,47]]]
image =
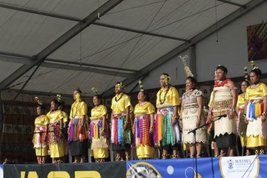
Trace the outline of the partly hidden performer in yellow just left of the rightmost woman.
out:
[[[248,82],[249,76],[247,72],[247,67],[244,67],[245,69],[245,80],[241,82],[241,94],[237,98],[237,104],[236,104],[236,133],[237,133],[237,145],[239,146],[239,152],[242,152],[242,147],[246,147],[246,130],[247,130],[247,124],[245,123],[245,117],[244,117],[244,110],[245,110],[245,95],[246,95],[246,89],[248,86],[250,86],[250,83]],[[243,155],[241,155],[243,156]]]

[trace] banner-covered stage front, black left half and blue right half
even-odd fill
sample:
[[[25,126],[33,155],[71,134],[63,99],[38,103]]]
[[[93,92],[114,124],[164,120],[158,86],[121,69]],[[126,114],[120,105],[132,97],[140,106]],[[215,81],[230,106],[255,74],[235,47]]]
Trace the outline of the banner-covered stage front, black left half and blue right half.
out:
[[[198,178],[267,177],[267,156],[201,158]],[[177,178],[196,176],[195,159],[83,164],[1,165],[0,178]]]

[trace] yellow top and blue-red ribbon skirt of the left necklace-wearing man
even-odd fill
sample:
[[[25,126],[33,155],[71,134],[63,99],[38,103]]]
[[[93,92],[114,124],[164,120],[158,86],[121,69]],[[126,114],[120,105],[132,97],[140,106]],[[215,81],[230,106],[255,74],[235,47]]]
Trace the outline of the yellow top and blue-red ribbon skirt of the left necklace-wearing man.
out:
[[[126,149],[124,145],[131,144],[130,127],[126,131],[123,130],[123,124],[126,122],[126,108],[129,106],[131,106],[130,97],[123,92],[112,98],[111,143],[114,151]]]

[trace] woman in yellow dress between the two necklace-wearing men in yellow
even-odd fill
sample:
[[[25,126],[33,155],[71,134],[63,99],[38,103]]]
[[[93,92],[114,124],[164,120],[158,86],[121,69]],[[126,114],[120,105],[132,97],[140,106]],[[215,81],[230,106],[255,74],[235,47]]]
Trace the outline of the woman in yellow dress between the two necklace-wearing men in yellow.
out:
[[[135,105],[135,122],[133,131],[138,159],[152,159],[154,156],[154,114],[155,107],[147,101],[148,94],[139,81],[140,91],[137,95],[139,103]]]

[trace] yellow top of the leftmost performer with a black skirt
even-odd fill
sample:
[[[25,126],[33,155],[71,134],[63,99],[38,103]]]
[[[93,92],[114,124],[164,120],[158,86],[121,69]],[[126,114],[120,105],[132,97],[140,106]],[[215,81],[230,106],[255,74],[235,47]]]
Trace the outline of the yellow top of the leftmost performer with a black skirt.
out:
[[[83,101],[74,102],[71,105],[71,113],[69,114],[69,118],[80,118],[83,115],[87,115],[87,104]]]

